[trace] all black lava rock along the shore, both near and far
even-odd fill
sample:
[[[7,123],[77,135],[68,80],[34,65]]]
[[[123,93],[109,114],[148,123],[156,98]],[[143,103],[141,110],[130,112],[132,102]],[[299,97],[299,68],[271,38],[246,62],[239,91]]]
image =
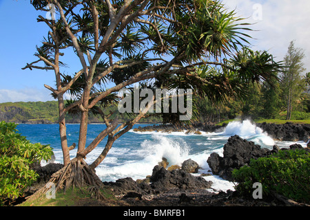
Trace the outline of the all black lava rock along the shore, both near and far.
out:
[[[187,132],[199,134],[200,131],[214,132],[220,131],[226,125],[213,126],[209,124],[196,124],[191,127],[183,128]],[[284,124],[275,126],[273,124],[258,124],[264,131],[274,129],[271,135],[281,137],[282,140],[308,140],[310,126],[307,124]],[[145,126],[139,127],[135,131],[158,131],[176,132],[183,131],[172,125]],[[270,131],[269,131],[270,132]],[[299,144],[293,144],[289,148],[278,148],[273,146],[272,150],[261,148],[254,142],[243,140],[238,135],[232,136],[223,148],[223,157],[217,153],[212,153],[206,158],[211,173],[223,179],[234,181],[231,171],[249,164],[251,158],[267,157],[278,151],[302,148]],[[310,149],[305,148],[310,153]],[[173,165],[173,164],[172,164]],[[45,182],[50,179],[52,173],[62,168],[62,164],[48,164],[46,166],[35,166],[33,169],[39,174],[38,181],[33,184],[26,195],[31,195]],[[238,192],[228,190],[227,192],[212,192],[206,190],[212,188],[212,182],[206,181],[202,175],[192,175],[198,173],[199,166],[192,159],[183,162],[182,166],[167,167],[167,160],[154,166],[152,174],[145,179],[134,181],[131,177],[118,179],[115,182],[103,182],[114,192],[115,197],[125,202],[127,206],[304,206],[289,201],[283,197],[268,197],[264,199],[244,198]]]

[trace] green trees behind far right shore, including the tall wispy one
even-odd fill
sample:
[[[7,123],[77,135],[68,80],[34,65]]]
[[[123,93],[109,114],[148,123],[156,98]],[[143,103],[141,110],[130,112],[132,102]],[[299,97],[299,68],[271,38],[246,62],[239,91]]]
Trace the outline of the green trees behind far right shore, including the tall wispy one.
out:
[[[200,122],[221,122],[237,117],[262,121],[310,120],[310,73],[304,74],[304,52],[292,41],[284,58],[285,67],[269,82],[250,82],[243,95],[227,102],[198,100]]]

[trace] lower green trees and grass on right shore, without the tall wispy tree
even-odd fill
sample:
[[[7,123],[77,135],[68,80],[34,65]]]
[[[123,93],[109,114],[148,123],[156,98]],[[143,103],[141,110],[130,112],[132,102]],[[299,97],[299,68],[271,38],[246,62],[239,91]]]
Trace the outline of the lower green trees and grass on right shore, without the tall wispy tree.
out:
[[[270,88],[265,85],[250,86],[247,98],[231,99],[225,104],[211,104],[207,98],[198,100],[200,122],[229,122],[235,118],[251,118],[255,122],[300,122],[310,120],[310,94],[303,93],[293,104],[291,119],[287,120],[287,105],[280,98],[280,91],[273,91],[271,100]],[[269,96],[269,98],[267,98]]]

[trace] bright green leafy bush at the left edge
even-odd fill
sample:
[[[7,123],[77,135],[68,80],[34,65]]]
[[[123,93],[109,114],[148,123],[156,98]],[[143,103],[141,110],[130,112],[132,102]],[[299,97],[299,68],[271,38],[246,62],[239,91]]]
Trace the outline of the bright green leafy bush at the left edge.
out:
[[[5,201],[17,199],[37,179],[31,164],[52,156],[49,145],[31,144],[17,133],[16,126],[0,122],[0,206]]]

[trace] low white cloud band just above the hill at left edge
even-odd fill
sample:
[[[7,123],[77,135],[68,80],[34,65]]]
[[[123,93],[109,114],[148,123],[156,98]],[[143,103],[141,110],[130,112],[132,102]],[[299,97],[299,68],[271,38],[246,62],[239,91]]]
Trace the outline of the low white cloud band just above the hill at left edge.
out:
[[[37,102],[53,100],[48,89],[0,89],[1,102]]]

